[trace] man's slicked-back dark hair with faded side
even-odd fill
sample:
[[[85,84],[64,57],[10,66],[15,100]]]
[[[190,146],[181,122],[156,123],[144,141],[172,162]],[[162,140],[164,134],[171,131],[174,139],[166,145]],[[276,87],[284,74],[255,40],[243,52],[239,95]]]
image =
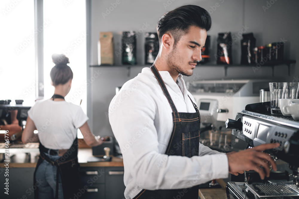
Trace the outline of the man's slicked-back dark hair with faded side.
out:
[[[164,14],[158,21],[157,33],[161,46],[162,36],[170,33],[174,38],[174,46],[181,36],[188,33],[190,26],[197,26],[206,31],[212,25],[211,16],[207,10],[196,5],[185,5]]]

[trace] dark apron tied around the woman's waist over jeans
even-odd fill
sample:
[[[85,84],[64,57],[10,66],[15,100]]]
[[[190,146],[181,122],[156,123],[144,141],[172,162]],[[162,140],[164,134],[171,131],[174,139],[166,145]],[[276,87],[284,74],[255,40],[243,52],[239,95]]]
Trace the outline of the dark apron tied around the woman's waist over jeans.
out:
[[[79,174],[79,163],[78,163],[78,138],[76,138],[71,146],[65,154],[63,154],[58,160],[51,161],[45,153],[49,151],[48,148],[39,143],[39,160],[37,161],[36,168],[34,171],[34,184],[36,184],[35,174],[37,168],[42,163],[42,161],[47,161],[52,165],[57,166],[57,176],[56,176],[56,193],[55,198],[58,198],[58,180],[59,174],[61,176],[62,181],[62,190],[63,190],[63,198],[69,199],[73,198],[74,194],[78,192],[80,186],[80,174]],[[50,152],[54,152],[54,150],[50,150]],[[52,154],[53,155],[53,154]],[[34,198],[38,199],[38,187],[34,191]]]

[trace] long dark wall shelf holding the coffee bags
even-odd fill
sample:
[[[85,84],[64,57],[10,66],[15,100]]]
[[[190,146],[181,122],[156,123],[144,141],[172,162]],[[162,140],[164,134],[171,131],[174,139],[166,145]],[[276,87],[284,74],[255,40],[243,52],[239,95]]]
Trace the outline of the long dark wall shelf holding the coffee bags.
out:
[[[197,64],[196,67],[207,67],[207,66],[217,66],[217,67],[224,67],[224,75],[227,77],[227,69],[228,67],[256,67],[257,69],[261,67],[271,67],[272,68],[272,77],[274,77],[274,67],[279,65],[287,65],[288,66],[288,73],[290,76],[290,69],[291,64],[295,64],[296,60],[283,60],[283,61],[269,61],[265,64],[260,64],[260,67],[257,64],[254,65],[241,65],[241,64],[231,64],[231,65],[224,65],[224,64]],[[151,67],[151,64],[146,65],[90,65],[90,67],[126,67],[128,69],[128,77],[130,76],[131,67]]]

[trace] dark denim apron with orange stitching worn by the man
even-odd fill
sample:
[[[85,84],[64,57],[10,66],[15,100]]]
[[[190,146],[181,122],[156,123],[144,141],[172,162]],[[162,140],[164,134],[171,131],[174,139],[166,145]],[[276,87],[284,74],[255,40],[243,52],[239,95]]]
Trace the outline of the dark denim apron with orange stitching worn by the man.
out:
[[[150,67],[155,77],[157,78],[170,106],[173,117],[173,130],[166,148],[166,155],[179,155],[191,158],[198,156],[199,153],[199,129],[200,129],[200,115],[196,104],[191,100],[195,113],[178,112],[174,105],[169,92],[157,70],[153,64]],[[186,189],[159,189],[146,190],[143,189],[133,199],[198,199],[199,185],[193,187],[186,187]]]

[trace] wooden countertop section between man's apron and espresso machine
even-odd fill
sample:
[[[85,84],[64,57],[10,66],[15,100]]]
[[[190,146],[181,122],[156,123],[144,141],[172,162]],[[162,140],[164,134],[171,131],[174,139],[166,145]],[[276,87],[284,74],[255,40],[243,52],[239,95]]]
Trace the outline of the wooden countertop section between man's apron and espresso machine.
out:
[[[221,188],[219,189],[199,189],[198,195],[200,199],[227,199],[225,186],[226,183],[222,179],[216,180]]]

